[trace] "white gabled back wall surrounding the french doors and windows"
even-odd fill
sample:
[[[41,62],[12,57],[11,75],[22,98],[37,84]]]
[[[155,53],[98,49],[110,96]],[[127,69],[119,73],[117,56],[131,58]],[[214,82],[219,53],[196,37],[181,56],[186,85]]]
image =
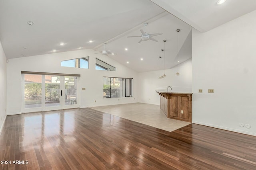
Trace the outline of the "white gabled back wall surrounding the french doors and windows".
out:
[[[7,63],[7,115],[22,112],[21,71],[80,74],[80,89],[86,88],[80,93],[81,108],[138,102],[138,73],[109,57],[94,53],[95,51],[88,49],[9,59]],[[60,66],[60,61],[86,56],[89,56],[89,69]],[[116,72],[95,70],[95,57],[115,66]],[[104,99],[102,96],[103,76],[134,78],[133,97]]]

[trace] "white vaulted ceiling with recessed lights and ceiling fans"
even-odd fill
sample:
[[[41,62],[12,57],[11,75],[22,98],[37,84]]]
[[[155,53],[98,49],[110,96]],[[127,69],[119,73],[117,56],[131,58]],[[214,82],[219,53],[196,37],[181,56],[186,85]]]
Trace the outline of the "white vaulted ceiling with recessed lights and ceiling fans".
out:
[[[177,47],[180,62],[191,58],[192,27],[208,31],[255,9],[255,0],[222,5],[217,0],[0,0],[0,40],[8,59],[102,50],[107,43],[106,49],[117,53],[109,57],[144,72],[159,69],[164,39],[166,68],[171,68],[177,64]],[[158,42],[127,38],[141,35],[140,29],[163,34],[154,37]],[[181,30],[178,45],[176,29]]]

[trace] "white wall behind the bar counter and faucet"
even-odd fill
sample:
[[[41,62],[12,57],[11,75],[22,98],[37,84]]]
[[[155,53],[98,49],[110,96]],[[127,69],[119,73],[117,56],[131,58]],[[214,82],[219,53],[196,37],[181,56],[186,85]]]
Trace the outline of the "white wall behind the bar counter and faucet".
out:
[[[159,71],[150,72],[140,72],[139,81],[139,102],[147,104],[160,105],[159,94],[155,90],[158,88],[161,90],[167,90],[168,86],[172,86],[172,91],[191,92],[192,87],[192,61],[188,59],[187,61],[179,64],[180,76],[176,76],[177,67],[165,70],[167,75],[165,78],[159,79]],[[170,88],[169,88],[170,90]]]

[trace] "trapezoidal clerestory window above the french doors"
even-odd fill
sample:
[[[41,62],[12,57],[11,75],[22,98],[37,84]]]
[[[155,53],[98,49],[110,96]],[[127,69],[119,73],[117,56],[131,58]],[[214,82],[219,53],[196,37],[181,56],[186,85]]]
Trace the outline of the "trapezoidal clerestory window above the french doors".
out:
[[[60,65],[64,67],[88,68],[88,59],[89,57],[83,57],[79,59],[61,61]]]

